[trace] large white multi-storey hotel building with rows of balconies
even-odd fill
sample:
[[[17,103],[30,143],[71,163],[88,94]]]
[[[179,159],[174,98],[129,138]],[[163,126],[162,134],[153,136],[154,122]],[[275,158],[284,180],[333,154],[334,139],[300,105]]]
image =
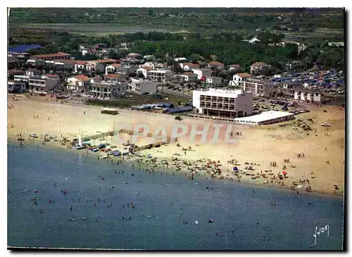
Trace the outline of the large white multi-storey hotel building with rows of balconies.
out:
[[[221,118],[239,118],[253,113],[253,92],[210,88],[193,91],[193,106],[197,114]]]

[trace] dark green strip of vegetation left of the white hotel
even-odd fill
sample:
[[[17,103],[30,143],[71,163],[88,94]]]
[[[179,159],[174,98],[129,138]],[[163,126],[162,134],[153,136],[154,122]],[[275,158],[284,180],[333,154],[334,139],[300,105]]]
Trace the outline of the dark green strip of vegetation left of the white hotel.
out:
[[[168,98],[168,99],[165,99]],[[139,95],[128,93],[125,97],[116,101],[104,101],[104,100],[88,100],[87,104],[94,106],[106,106],[106,107],[118,107],[118,108],[130,108],[131,106],[139,106],[142,104],[156,104],[159,102],[170,102],[175,106],[182,105],[189,101],[189,97],[177,96],[174,94],[151,94],[151,95]]]

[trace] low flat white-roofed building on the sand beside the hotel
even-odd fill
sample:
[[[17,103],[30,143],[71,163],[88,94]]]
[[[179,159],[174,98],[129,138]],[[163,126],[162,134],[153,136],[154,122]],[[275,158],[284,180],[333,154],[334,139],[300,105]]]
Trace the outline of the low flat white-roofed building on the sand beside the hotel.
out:
[[[284,111],[265,111],[258,115],[251,115],[243,118],[235,118],[236,123],[246,125],[269,125],[273,123],[282,123],[287,120],[293,120],[294,113]]]

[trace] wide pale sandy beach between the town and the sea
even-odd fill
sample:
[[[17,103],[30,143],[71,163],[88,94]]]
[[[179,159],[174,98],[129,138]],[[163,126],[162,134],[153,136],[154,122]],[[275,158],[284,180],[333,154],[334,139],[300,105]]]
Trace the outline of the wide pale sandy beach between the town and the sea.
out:
[[[73,139],[77,134],[85,137],[98,132],[113,131],[121,124],[130,124],[133,127],[137,123],[142,123],[148,125],[151,132],[165,124],[170,135],[174,123],[182,123],[187,127],[197,125],[198,130],[206,124],[212,127],[214,123],[212,120],[198,118],[184,118],[182,121],[177,121],[172,115],[130,110],[120,110],[118,115],[106,115],[101,114],[103,107],[60,104],[60,102],[37,101],[25,97],[15,98],[18,100],[13,101],[13,96],[8,97],[8,106],[13,106],[8,108],[8,138],[17,139],[18,134],[23,134],[24,144],[28,143],[29,135],[33,133],[38,135],[35,141],[42,143],[41,137],[44,134],[56,135],[58,138],[62,135]],[[224,180],[234,182],[240,180],[288,189],[292,187],[292,182],[298,182],[296,191],[299,193],[306,192],[306,187],[310,186],[313,193],[341,196],[344,193],[345,110],[338,106],[309,106],[309,109],[310,113],[297,115],[296,120],[287,123],[260,127],[235,125],[232,128],[234,143],[210,142],[213,131],[208,133],[205,143],[200,142],[200,136],[196,137],[195,142],[190,142],[189,133],[187,133],[178,138],[180,146],[170,143],[158,148],[146,149],[141,151],[141,154],[151,153],[153,158],[156,157],[158,160],[154,164],[156,168],[166,168],[166,165],[161,165],[161,161],[164,160],[170,164],[168,168],[180,167],[177,168],[179,172],[189,173],[189,175],[192,174],[191,167],[198,165],[199,168],[194,169],[193,174],[197,171],[210,177],[209,169],[202,170],[200,167],[208,165],[207,159],[210,159],[216,163],[216,165],[212,164],[213,168],[215,166],[221,170],[221,174],[215,174],[215,177]],[[299,120],[309,124],[312,130],[306,132],[301,127],[297,127]],[[324,122],[329,122],[331,127],[322,127],[321,123]],[[241,132],[241,135],[237,135],[236,132]],[[222,129],[220,141],[224,136],[225,129]],[[128,134],[121,134],[120,139],[127,142],[131,137]],[[136,144],[150,144],[150,140],[142,137]],[[115,144],[119,150],[123,147],[120,142],[117,142],[116,137],[91,141],[92,144],[100,142]],[[60,142],[49,144],[63,147]],[[188,151],[189,146],[191,151]],[[187,148],[187,151],[182,148]],[[298,158],[298,153],[303,153],[304,157]],[[136,158],[138,157],[131,158],[130,161],[137,163]],[[175,158],[179,161],[172,161]],[[285,158],[289,158],[289,163],[284,162]],[[202,162],[199,161],[201,159],[203,159]],[[237,164],[232,164],[233,159]],[[150,159],[148,163],[146,158],[139,158],[139,160],[144,160],[144,165],[151,166]],[[273,162],[277,164],[275,167],[270,165]],[[176,164],[172,165],[173,163]],[[286,167],[284,168],[283,165]],[[234,173],[234,166],[241,172]],[[253,170],[246,170],[246,166],[251,166]],[[287,177],[278,180],[277,175],[282,170],[287,172]],[[284,182],[283,185],[282,182]],[[339,189],[334,189],[335,184]]]

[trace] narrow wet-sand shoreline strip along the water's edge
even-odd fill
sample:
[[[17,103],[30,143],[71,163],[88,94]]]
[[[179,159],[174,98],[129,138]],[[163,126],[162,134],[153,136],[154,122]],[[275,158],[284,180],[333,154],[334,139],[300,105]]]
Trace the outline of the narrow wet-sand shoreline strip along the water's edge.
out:
[[[63,151],[69,151],[69,152],[75,152],[75,153],[86,153],[83,149],[83,151],[80,150],[76,150],[76,149],[69,149],[67,146],[62,146],[60,142],[46,142],[46,144],[42,145],[39,142],[40,139],[35,139],[31,142],[29,142],[27,140],[27,142],[25,142],[25,144],[30,144],[32,146],[38,146],[38,147],[49,147],[50,149],[61,149]],[[8,144],[16,144],[18,143],[18,140],[15,139],[15,137],[8,137]],[[162,147],[162,146],[161,146]],[[98,158],[98,156],[105,156],[106,154],[100,154],[100,152],[98,153],[92,153],[91,151],[87,151],[87,157],[89,158]],[[114,164],[117,164],[116,161],[121,160],[121,156],[119,157],[115,157],[113,156],[113,158],[105,158],[105,160],[111,161],[113,160]],[[163,173],[175,173],[177,175],[187,175],[187,171],[184,170],[175,170],[172,168],[166,168],[163,165],[161,165],[161,167],[157,166],[157,167],[153,167],[151,168],[149,165],[146,165],[146,163],[138,163],[137,160],[141,160],[142,158],[137,157],[137,156],[129,156],[129,158],[125,158],[122,163],[125,163],[127,165],[130,165],[130,167],[132,168],[132,165],[134,165],[134,169],[139,169],[141,172],[163,172]],[[103,159],[104,160],[104,159]],[[101,161],[103,161],[101,160]],[[148,158],[146,158],[146,160],[148,160]],[[136,162],[136,163],[133,163]],[[118,165],[117,165],[118,166]],[[151,171],[153,170],[153,171]],[[188,173],[191,174],[191,173]],[[210,177],[207,174],[203,174],[203,173],[198,173],[194,176],[194,178],[196,179],[196,177],[200,177],[201,179],[206,179],[208,178],[209,181],[212,180],[217,180],[217,181],[221,181],[223,180],[224,182],[230,182],[230,183],[234,183],[234,184],[244,184],[246,187],[251,187],[253,189],[255,188],[271,188],[271,189],[275,189],[275,190],[280,190],[280,191],[284,191],[284,192],[292,192],[293,190],[289,188],[289,185],[284,185],[282,186],[281,184],[271,184],[271,183],[256,183],[253,180],[248,180],[248,179],[241,179],[241,182],[238,182],[237,180],[230,180],[227,179],[227,177],[225,177],[224,179],[220,179],[220,177]],[[185,178],[187,180],[187,178]],[[252,182],[253,181],[253,182]],[[196,182],[196,180],[194,180],[194,182]],[[292,192],[293,193],[293,192]],[[328,192],[322,193],[322,192],[318,192],[317,190],[313,190],[312,192],[306,192],[306,190],[301,190],[299,194],[309,194],[309,195],[313,195],[313,196],[321,196],[321,197],[329,197],[329,198],[333,198],[333,199],[344,199],[344,192],[339,192],[337,194],[331,194]]]

